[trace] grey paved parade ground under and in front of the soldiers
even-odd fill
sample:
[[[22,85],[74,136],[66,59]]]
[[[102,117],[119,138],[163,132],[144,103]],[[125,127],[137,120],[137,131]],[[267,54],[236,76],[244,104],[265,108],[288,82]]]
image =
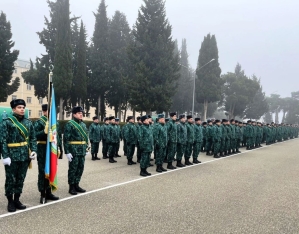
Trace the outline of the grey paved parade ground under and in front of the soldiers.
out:
[[[121,157],[86,160],[82,187],[70,196],[67,160],[59,160],[59,202],[39,205],[37,165],[21,201],[7,214],[0,199],[1,233],[299,233],[299,139],[141,178]],[[4,194],[0,168],[0,193]],[[7,216],[8,215],[8,216]]]

